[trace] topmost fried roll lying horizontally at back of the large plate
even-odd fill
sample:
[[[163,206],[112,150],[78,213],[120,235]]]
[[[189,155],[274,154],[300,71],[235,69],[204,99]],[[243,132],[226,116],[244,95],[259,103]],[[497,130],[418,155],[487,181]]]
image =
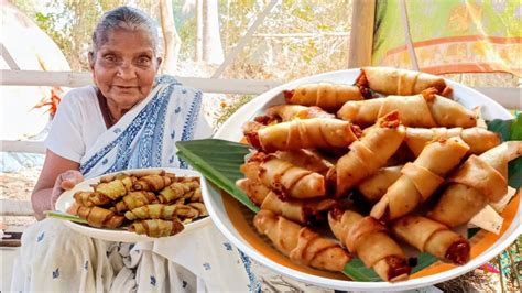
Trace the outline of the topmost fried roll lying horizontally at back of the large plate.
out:
[[[392,67],[362,67],[361,75],[367,80],[367,85],[362,86],[384,95],[415,95],[429,87],[436,88],[439,93],[450,93],[444,78],[420,72]]]

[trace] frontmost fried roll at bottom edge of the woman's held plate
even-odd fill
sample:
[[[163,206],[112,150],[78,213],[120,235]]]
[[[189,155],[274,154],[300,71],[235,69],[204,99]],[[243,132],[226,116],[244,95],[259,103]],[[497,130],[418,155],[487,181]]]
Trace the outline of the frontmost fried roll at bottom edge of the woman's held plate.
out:
[[[162,220],[162,219],[149,219],[149,220],[135,220],[129,226],[129,230],[140,235],[146,235],[149,237],[166,237],[183,231],[185,227],[176,219],[174,220]]]

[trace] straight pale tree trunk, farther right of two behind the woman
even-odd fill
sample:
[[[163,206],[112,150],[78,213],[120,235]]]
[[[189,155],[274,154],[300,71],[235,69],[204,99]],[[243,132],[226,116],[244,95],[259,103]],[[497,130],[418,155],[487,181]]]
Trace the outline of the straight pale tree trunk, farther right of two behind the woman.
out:
[[[224,61],[218,15],[218,1],[203,0],[203,59],[207,64],[221,64]]]

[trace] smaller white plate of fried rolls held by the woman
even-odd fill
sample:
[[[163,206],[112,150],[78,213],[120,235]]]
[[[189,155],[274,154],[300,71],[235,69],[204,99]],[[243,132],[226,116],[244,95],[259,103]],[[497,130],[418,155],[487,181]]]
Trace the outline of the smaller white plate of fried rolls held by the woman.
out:
[[[137,169],[78,183],[56,202],[64,221],[86,236],[140,242],[208,224],[200,174],[184,169]]]

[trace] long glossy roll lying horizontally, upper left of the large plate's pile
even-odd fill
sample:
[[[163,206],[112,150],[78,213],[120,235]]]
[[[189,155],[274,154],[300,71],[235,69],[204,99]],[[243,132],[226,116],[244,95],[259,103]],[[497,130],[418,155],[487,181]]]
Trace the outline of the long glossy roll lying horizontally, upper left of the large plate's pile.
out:
[[[244,133],[249,143],[265,152],[316,148],[346,148],[357,140],[359,128],[339,119],[296,119]]]

